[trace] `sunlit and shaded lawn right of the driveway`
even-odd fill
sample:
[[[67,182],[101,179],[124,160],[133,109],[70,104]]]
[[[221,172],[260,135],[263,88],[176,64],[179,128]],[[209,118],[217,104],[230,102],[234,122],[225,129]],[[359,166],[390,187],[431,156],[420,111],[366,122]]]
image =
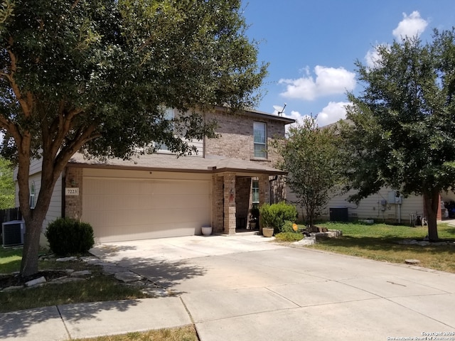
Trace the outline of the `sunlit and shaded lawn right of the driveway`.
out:
[[[422,240],[427,235],[427,227],[335,222],[318,226],[341,229],[343,237],[319,242],[311,246],[313,249],[399,264],[403,264],[405,259],[418,259],[419,266],[455,273],[455,227],[449,224],[438,224],[438,232],[439,238],[451,240],[451,245],[430,244],[424,247],[398,242],[405,239]]]

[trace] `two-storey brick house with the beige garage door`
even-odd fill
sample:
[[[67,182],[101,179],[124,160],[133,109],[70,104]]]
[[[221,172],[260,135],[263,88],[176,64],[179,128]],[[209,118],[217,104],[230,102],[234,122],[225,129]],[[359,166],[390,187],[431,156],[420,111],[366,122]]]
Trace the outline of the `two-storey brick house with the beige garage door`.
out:
[[[269,146],[294,119],[221,107],[205,116],[218,121],[220,138],[196,141],[197,155],[177,158],[166,146],[129,161],[75,154],[55,185],[43,232],[57,217],[89,222],[97,243],[200,234],[206,225],[225,234],[247,229],[253,205],[286,197],[285,172],[273,168],[279,156]],[[40,172],[34,161],[32,207]]]

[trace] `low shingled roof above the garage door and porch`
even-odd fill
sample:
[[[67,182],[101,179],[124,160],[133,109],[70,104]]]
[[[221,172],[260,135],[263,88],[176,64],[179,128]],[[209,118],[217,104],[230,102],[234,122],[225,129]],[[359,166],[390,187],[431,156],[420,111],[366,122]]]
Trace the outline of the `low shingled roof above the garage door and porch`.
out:
[[[268,166],[262,161],[247,161],[237,158],[210,157],[200,158],[194,156],[176,157],[173,154],[135,154],[129,160],[110,158],[102,161],[97,158],[87,159],[82,153],[75,155],[68,161],[69,166],[85,168],[118,168],[136,169],[147,171],[168,171],[184,173],[260,173],[269,175],[284,175],[285,171]]]

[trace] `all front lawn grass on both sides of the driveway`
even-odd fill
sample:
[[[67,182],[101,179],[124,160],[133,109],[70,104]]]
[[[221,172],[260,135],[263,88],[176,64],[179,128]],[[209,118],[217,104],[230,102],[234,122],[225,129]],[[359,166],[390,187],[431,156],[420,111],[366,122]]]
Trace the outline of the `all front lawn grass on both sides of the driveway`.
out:
[[[311,246],[313,249],[360,256],[378,261],[403,264],[405,259],[419,259],[420,266],[455,273],[455,244],[447,246],[402,245],[404,239],[423,239],[427,227],[394,226],[388,224],[354,224],[326,222],[318,224],[328,229],[341,229],[343,237],[327,239]],[[303,226],[301,226],[303,228]],[[439,238],[455,241],[455,227],[449,224],[438,225]],[[18,271],[21,264],[22,249],[0,248],[0,274]],[[84,262],[40,261],[40,269],[86,269]],[[110,301],[141,298],[139,288],[129,288],[120,284],[112,276],[105,276],[100,269],[92,267],[92,279],[41,288],[20,289],[0,292],[0,313],[6,311],[35,308],[45,305],[80,303],[90,301]],[[90,341],[133,341],[133,340],[198,340],[193,326],[150,332],[134,332],[92,338]]]

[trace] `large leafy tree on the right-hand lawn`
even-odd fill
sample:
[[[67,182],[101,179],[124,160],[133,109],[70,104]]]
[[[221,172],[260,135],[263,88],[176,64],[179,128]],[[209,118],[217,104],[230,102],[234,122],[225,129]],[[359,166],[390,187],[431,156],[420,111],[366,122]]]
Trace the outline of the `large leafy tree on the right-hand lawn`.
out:
[[[423,195],[428,236],[437,240],[441,190],[455,188],[455,35],[434,31],[378,47],[373,67],[357,62],[365,89],[349,94],[343,128],[350,188],[358,202],[382,186]]]

